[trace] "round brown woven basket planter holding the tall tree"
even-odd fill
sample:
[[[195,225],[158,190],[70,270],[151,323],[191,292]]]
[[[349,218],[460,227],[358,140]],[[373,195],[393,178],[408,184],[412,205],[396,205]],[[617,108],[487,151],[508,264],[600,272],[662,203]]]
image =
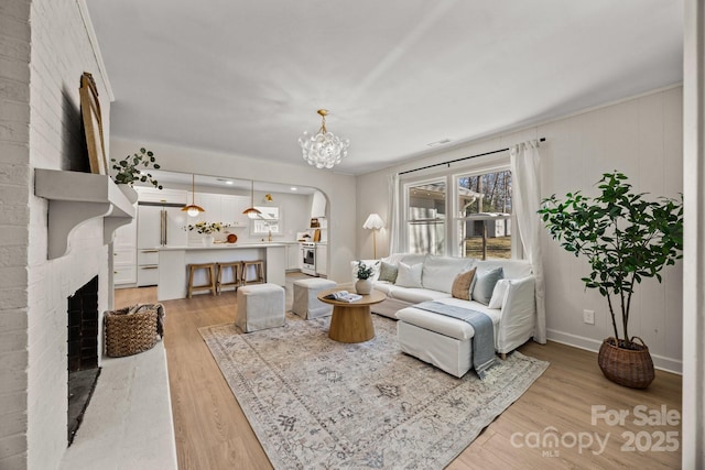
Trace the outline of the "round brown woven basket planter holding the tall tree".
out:
[[[641,345],[633,342],[634,339]],[[605,339],[597,354],[597,363],[612,382],[631,389],[646,389],[655,376],[653,361],[641,338],[634,336],[631,341],[636,349],[618,348],[618,341],[612,337]]]

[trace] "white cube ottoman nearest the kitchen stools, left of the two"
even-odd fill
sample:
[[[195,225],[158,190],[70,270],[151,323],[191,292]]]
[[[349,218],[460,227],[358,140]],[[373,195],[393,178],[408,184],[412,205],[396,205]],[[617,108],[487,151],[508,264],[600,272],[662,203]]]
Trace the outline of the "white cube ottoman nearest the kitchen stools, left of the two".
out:
[[[238,288],[235,325],[242,331],[284,326],[284,288],[276,284],[243,285]]]

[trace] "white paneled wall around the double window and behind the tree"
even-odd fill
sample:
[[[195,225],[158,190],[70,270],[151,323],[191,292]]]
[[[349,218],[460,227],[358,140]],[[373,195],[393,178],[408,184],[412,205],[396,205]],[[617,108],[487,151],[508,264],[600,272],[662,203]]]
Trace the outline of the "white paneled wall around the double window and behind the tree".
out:
[[[543,196],[582,189],[594,195],[603,173],[618,170],[629,176],[637,192],[677,197],[683,190],[682,88],[674,87],[611,106],[586,110],[517,132],[506,132],[447,152],[358,177],[358,256],[371,256],[369,230],[361,227],[369,212],[389,223],[389,208],[381,187],[390,174],[507,147],[528,139],[546,138],[541,146]],[[474,159],[466,165],[491,162]],[[462,164],[453,167],[462,168]],[[378,236],[378,255],[388,253],[388,230]],[[597,350],[611,336],[605,299],[585,291],[581,277],[587,264],[565,252],[543,232],[549,339]],[[663,284],[644,281],[632,298],[630,334],[641,337],[657,367],[681,371],[682,266],[669,266]],[[595,310],[595,325],[583,324],[583,309]]]

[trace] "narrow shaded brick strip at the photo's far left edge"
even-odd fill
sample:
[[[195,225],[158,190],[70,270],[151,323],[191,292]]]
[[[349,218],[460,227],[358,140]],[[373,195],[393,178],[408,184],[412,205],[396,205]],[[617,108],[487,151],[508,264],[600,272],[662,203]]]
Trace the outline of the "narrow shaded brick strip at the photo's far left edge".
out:
[[[30,0],[0,2],[0,468],[26,466]]]

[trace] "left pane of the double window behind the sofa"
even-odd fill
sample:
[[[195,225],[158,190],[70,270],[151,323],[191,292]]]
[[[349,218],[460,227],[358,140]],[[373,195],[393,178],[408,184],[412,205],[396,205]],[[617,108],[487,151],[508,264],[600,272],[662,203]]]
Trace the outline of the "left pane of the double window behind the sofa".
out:
[[[405,188],[408,251],[445,254],[445,178],[406,185]]]

